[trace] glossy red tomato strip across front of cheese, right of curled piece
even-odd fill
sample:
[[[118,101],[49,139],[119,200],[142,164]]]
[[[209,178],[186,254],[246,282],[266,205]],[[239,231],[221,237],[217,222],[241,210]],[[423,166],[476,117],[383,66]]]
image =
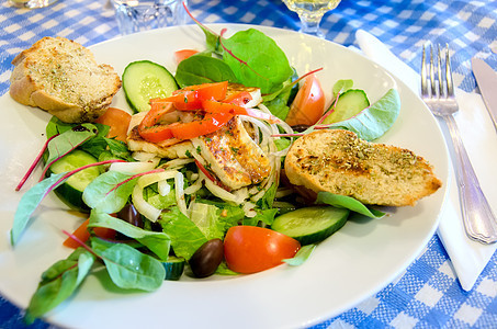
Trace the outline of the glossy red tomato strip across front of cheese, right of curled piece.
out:
[[[218,131],[230,118],[230,113],[207,113],[201,121],[170,124],[172,136],[178,139],[192,139]]]

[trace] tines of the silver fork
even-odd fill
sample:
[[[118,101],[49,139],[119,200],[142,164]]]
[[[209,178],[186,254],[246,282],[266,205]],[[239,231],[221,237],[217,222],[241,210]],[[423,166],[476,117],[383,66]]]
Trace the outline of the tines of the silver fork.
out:
[[[422,61],[421,61],[421,94],[423,97],[438,97],[451,98],[454,95],[452,68],[450,61],[449,45],[445,44],[444,56],[440,46],[437,45],[437,64],[433,60],[433,46],[430,46],[430,63],[427,64],[426,47],[422,46]],[[442,57],[445,70],[442,68]],[[429,81],[429,83],[428,83]],[[429,84],[429,86],[428,86]],[[444,86],[445,84],[445,86]],[[447,87],[447,88],[443,88]]]

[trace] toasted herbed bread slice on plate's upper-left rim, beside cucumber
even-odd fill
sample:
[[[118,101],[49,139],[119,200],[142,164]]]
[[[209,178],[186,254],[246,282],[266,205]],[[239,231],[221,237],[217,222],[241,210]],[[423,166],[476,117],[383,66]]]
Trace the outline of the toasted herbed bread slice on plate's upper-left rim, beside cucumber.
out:
[[[11,97],[67,123],[93,122],[112,102],[121,79],[109,65],[63,37],[44,37],[13,60]]]

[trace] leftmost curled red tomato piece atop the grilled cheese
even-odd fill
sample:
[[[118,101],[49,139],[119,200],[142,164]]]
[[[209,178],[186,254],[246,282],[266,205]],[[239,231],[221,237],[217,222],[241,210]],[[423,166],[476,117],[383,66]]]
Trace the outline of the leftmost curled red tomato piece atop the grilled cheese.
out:
[[[159,143],[172,138],[169,125],[159,124],[162,115],[171,111],[174,111],[172,103],[163,100],[150,100],[150,111],[147,112],[138,125],[139,136],[150,143]]]

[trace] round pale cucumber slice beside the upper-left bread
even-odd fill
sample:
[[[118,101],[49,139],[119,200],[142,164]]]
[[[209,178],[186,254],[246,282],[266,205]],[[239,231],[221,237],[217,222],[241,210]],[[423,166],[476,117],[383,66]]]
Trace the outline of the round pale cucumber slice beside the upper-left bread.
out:
[[[177,89],[174,77],[150,60],[133,61],[124,69],[123,90],[134,112],[150,110],[151,99],[170,97]]]

